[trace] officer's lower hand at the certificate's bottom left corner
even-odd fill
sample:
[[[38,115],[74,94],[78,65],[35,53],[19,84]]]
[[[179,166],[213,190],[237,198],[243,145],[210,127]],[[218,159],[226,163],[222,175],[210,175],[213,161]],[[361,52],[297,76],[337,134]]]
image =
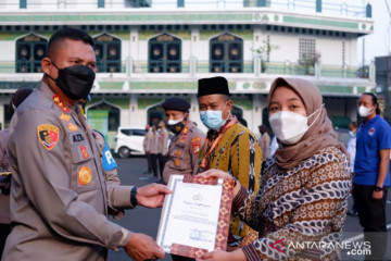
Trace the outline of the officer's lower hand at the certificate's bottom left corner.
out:
[[[124,249],[135,261],[164,258],[164,251],[157,246],[153,238],[140,233],[131,233],[130,239]]]

